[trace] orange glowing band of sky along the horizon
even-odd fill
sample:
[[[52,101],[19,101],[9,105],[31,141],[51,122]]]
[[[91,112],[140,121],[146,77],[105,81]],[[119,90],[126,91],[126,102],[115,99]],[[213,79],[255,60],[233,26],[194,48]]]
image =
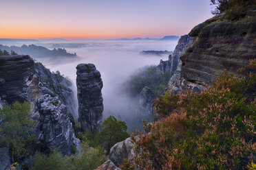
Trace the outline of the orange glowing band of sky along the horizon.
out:
[[[166,32],[164,34],[163,32]],[[164,30],[159,34],[159,30],[129,30],[129,29],[70,29],[61,27],[47,28],[47,27],[17,27],[4,26],[0,27],[0,38],[20,38],[20,39],[51,39],[51,38],[65,38],[65,39],[110,39],[110,38],[161,38],[162,36],[177,35],[171,34]],[[178,32],[173,30],[172,32]]]

